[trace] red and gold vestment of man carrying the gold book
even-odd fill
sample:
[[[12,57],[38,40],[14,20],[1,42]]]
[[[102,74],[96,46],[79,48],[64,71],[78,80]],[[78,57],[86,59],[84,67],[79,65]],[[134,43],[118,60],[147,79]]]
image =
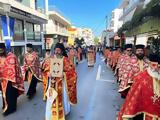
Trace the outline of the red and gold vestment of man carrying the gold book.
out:
[[[51,62],[53,58],[50,57],[49,61],[45,62],[45,71],[51,71]],[[54,67],[54,66],[52,66]],[[67,97],[70,104],[77,104],[77,73],[72,62],[67,57],[63,57],[63,73],[64,77],[53,77],[51,78],[52,87],[58,93],[56,99],[52,103],[52,118],[53,120],[64,120],[64,109],[63,109],[63,87],[66,86]],[[48,76],[50,77],[50,76]],[[65,82],[64,82],[65,81]],[[64,84],[65,83],[65,84]]]

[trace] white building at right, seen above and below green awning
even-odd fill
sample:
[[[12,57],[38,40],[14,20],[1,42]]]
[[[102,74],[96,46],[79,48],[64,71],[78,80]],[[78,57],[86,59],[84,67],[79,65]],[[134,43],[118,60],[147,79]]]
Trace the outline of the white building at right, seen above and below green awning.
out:
[[[139,9],[143,9],[150,1],[151,0],[122,0],[120,8],[123,9],[123,14],[120,20],[123,21],[123,24],[132,20],[134,14],[137,13]],[[147,45],[148,36],[148,33],[127,36],[125,42]]]

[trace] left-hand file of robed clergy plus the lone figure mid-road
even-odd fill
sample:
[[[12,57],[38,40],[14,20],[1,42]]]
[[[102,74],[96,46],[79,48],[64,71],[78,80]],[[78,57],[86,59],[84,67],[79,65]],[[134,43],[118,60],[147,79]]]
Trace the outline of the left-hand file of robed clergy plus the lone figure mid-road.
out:
[[[65,120],[70,105],[77,103],[77,73],[75,65],[82,60],[82,49],[71,46],[66,52],[58,42],[52,51],[46,50],[40,63],[32,44],[27,44],[24,64],[20,67],[17,57],[0,43],[0,90],[2,91],[3,115],[16,111],[17,98],[25,93],[24,81],[28,81],[28,99],[36,93],[37,83],[43,83],[43,100],[46,101],[45,120]],[[95,63],[93,46],[88,47],[88,67]]]

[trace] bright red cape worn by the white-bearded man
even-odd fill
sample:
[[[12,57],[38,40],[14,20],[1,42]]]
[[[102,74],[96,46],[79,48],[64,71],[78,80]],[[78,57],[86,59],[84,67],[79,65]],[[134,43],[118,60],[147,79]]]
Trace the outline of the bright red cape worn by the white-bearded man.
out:
[[[154,79],[148,71],[134,77],[134,83],[118,114],[118,120],[128,120],[138,114],[144,114],[144,120],[160,119],[160,96],[153,91]]]

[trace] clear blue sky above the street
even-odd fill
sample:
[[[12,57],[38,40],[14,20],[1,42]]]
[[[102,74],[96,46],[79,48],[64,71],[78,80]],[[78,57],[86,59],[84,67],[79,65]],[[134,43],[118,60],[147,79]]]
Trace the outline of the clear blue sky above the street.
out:
[[[89,27],[96,36],[105,29],[105,17],[109,18],[119,3],[120,0],[49,0],[49,5],[56,6],[74,26]]]

